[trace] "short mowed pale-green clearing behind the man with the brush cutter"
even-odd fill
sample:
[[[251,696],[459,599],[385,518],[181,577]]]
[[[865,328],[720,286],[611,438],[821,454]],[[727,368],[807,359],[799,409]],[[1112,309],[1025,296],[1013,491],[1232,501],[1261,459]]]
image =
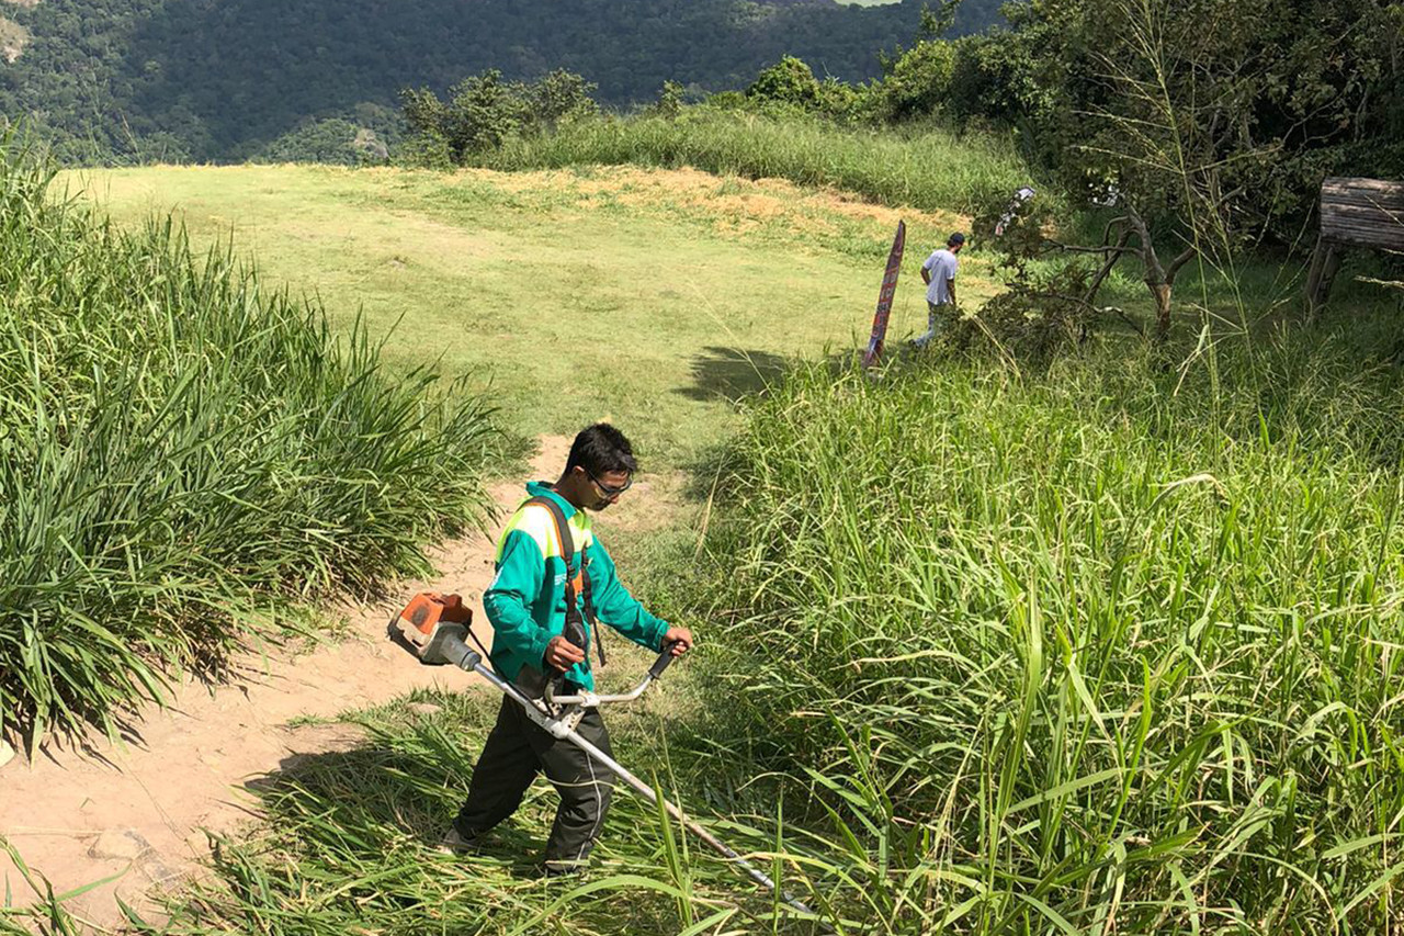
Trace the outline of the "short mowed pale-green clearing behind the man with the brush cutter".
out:
[[[145,167],[62,183],[125,226],[174,211],[198,245],[253,257],[270,288],[319,297],[337,329],[359,312],[389,336],[390,365],[466,375],[515,431],[608,417],[654,467],[727,433],[736,398],[792,356],[866,340],[897,218],[908,250],[889,337],[924,329],[918,266],[965,226],[691,170]],[[987,295],[986,274],[969,259],[963,295]]]

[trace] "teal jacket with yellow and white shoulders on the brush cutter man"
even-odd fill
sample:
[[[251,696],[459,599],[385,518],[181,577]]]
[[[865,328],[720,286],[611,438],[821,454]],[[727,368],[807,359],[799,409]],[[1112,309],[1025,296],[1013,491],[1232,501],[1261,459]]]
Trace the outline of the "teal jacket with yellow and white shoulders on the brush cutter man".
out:
[[[590,524],[590,514],[576,510],[545,481],[526,485],[529,498],[550,498],[560,505],[576,541],[576,562],[584,555],[590,573],[595,614],[635,644],[663,649],[668,625],[649,614],[615,575],[614,559]],[[578,566],[577,566],[578,568]],[[581,616],[584,616],[584,602]],[[556,524],[550,510],[539,503],[522,503],[507,521],[497,544],[497,578],[483,593],[483,610],[493,624],[493,668],[507,680],[515,680],[522,666],[543,670],[546,644],[566,627],[566,561],[560,555]],[[588,631],[590,624],[585,624]],[[594,635],[588,635],[594,639]],[[571,666],[566,676],[587,690],[595,687],[590,672],[590,641],[585,661]]]

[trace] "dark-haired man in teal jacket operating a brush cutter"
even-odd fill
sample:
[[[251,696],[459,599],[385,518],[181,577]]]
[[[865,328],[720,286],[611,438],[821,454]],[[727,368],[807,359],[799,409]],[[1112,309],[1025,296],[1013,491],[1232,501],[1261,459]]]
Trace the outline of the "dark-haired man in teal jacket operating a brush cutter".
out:
[[[493,669],[543,708],[552,708],[556,697],[594,691],[590,635],[604,665],[600,623],[654,651],[670,646],[674,656],[692,646],[685,627],[668,627],[619,583],[614,561],[591,528],[590,512],[618,502],[636,471],[623,433],[607,423],[583,430],[556,483],[526,485],[529,498],[497,545],[497,578],[483,594],[494,634]],[[600,708],[585,707],[578,718],[574,731],[612,756]],[[560,793],[545,873],[583,870],[609,808],[614,776],[505,696],[473,769],[468,802],[442,849],[475,849],[489,829],[515,812],[538,772]]]

